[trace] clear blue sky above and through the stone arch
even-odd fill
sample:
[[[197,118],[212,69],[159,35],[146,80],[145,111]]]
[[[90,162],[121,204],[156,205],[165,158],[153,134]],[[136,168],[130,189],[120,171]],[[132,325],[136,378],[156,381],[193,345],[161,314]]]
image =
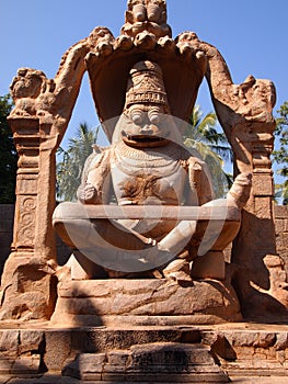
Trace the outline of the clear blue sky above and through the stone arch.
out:
[[[200,39],[215,45],[235,83],[250,74],[273,80],[277,89],[275,111],[288,100],[287,0],[166,2],[174,37],[193,31]],[[2,0],[0,94],[9,92],[9,84],[20,67],[41,69],[48,78],[54,78],[62,54],[95,26],[107,26],[117,36],[125,10],[126,0]],[[197,103],[205,113],[212,110],[205,81]],[[87,76],[64,145],[82,122],[97,125]],[[100,144],[105,144],[104,134]]]

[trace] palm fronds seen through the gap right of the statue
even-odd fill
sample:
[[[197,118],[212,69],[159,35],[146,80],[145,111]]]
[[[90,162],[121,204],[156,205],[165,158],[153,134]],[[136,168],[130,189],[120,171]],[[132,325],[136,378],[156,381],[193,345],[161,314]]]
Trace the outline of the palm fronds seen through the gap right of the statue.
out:
[[[210,169],[216,197],[223,197],[232,185],[232,176],[223,171],[224,160],[232,161],[232,150],[223,133],[216,129],[214,112],[203,117],[199,105],[195,105],[183,139],[188,148],[198,150]]]

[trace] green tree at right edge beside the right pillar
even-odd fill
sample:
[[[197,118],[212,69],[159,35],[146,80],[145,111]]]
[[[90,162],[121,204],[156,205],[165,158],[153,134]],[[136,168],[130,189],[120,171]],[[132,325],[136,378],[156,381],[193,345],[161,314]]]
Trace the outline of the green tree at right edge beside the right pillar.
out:
[[[288,101],[285,101],[280,109],[277,111],[279,117],[276,118],[275,135],[279,137],[279,148],[274,150],[273,158],[280,165],[277,173],[286,178],[286,180],[276,184],[276,197],[281,197],[284,204],[288,203]]]

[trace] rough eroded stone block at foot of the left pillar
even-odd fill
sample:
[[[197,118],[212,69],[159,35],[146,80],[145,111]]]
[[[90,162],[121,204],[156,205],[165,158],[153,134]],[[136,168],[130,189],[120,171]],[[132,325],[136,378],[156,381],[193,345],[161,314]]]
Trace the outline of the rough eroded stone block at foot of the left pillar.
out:
[[[1,320],[47,320],[57,298],[57,278],[34,252],[12,252],[1,276]]]

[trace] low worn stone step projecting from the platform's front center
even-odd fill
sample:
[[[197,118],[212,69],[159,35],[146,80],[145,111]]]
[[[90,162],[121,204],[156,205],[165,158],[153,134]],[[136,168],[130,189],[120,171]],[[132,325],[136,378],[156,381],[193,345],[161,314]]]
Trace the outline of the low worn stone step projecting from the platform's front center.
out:
[[[229,382],[208,348],[174,342],[138,345],[106,353],[80,353],[67,363],[62,375],[104,382]]]

